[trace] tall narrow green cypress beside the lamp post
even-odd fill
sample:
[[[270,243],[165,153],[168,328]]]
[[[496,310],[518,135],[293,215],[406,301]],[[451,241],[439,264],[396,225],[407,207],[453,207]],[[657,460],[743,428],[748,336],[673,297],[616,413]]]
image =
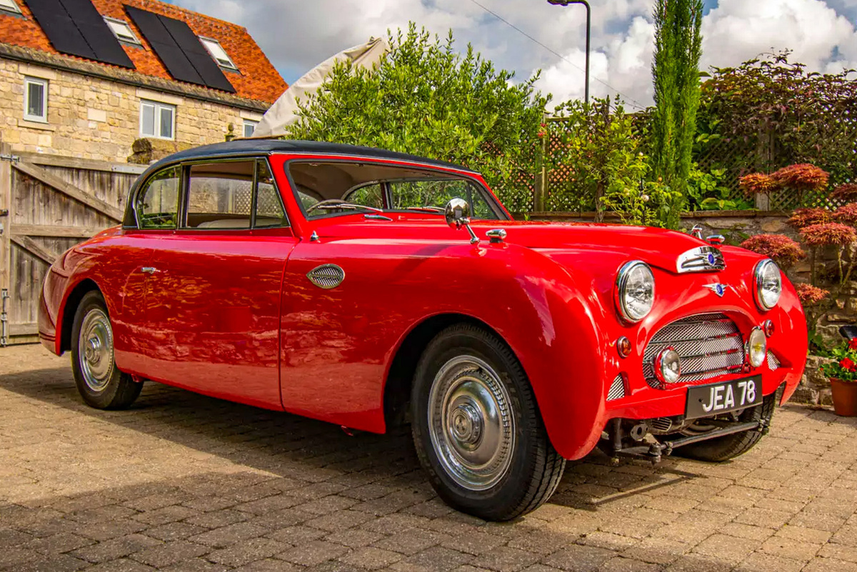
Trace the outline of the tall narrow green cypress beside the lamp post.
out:
[[[699,106],[703,0],[657,0],[655,18],[655,110],[651,122],[654,174],[680,195],[668,226],[677,228],[686,205]]]

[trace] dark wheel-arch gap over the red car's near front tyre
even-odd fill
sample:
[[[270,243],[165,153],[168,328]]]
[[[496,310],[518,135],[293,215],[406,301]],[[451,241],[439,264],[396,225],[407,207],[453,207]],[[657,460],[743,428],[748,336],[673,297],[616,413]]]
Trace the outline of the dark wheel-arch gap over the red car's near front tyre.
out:
[[[481,319],[464,313],[440,313],[429,316],[411,328],[390,360],[384,379],[384,421],[387,429],[402,425],[408,420],[408,404],[411,402],[411,385],[417,372],[417,362],[435,336],[446,328],[457,324],[470,324],[496,336],[515,355],[514,349],[498,331]],[[517,358],[517,355],[516,355]]]

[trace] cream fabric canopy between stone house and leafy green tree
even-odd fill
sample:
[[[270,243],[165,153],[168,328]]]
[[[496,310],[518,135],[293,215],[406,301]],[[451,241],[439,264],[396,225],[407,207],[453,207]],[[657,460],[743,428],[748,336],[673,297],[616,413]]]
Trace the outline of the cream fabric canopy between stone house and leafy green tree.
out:
[[[336,56],[315,66],[279,96],[256,126],[253,137],[279,137],[287,134],[289,126],[298,120],[297,100],[306,100],[317,92],[337,63],[351,60],[358,68],[371,68],[381,61],[387,51],[390,51],[390,45],[386,39],[372,38],[366,44],[340,51]]]

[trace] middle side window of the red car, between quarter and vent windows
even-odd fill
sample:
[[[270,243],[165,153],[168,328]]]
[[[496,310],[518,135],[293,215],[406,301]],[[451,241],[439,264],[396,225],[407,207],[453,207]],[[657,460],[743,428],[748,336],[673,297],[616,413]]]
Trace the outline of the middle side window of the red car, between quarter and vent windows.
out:
[[[255,161],[192,165],[186,228],[248,230],[254,170]]]

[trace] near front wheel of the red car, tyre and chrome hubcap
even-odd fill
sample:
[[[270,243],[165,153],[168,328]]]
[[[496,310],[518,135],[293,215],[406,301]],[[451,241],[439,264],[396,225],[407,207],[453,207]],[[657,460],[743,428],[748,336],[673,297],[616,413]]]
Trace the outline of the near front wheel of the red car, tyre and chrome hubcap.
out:
[[[565,468],[512,351],[455,325],[423,352],[411,393],[417,455],[446,503],[507,521],[550,498]]]

